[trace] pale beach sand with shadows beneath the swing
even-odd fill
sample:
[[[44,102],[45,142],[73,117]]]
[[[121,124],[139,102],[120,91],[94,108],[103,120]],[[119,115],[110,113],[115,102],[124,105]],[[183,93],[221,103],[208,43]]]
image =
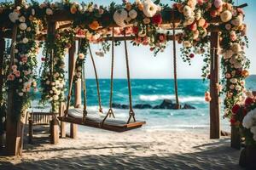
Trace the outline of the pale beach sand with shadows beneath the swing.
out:
[[[22,157],[0,157],[0,169],[241,169],[230,138],[210,140],[207,131],[90,130],[57,145],[37,138]]]

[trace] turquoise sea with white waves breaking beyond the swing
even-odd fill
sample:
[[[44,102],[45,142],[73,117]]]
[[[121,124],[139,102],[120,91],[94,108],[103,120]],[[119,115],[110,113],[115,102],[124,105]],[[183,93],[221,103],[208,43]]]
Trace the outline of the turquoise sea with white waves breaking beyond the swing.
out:
[[[180,103],[195,106],[195,110],[134,110],[137,120],[146,121],[144,130],[187,130],[209,128],[209,103],[205,102],[204,94],[209,88],[209,82],[201,79],[179,79],[178,95]],[[160,105],[163,99],[172,99],[175,102],[174,82],[171,79],[132,79],[131,93],[132,104]],[[247,88],[256,88],[256,77],[247,78]],[[96,80],[86,80],[87,105],[89,110],[98,110]],[[110,80],[101,79],[100,88],[102,95],[102,106],[108,111]],[[115,79],[113,81],[113,103],[129,104],[127,81]],[[33,105],[37,105],[33,102]],[[230,123],[222,119],[223,105],[221,109],[222,129],[229,130]],[[128,110],[114,109],[117,119],[126,120]],[[84,127],[83,127],[84,129]]]

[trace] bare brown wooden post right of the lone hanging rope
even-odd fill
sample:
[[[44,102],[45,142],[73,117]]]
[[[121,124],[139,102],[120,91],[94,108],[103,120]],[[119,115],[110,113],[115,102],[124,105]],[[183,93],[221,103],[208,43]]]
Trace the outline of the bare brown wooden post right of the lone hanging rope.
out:
[[[210,102],[210,139],[220,138],[220,120],[219,120],[219,97],[218,97],[218,82],[219,82],[219,57],[218,46],[219,36],[218,31],[211,32],[211,80],[210,94],[212,100]]]

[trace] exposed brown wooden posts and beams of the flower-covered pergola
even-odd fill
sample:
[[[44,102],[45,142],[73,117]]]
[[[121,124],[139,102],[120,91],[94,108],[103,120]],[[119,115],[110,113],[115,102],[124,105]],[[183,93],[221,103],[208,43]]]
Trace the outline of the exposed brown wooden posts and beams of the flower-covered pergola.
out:
[[[22,3],[22,0],[16,0],[15,5],[18,6]],[[240,8],[247,6],[247,4],[241,5]],[[168,23],[165,23],[165,27],[171,29],[174,24],[180,22],[180,14],[176,10],[172,10],[170,13],[170,20]],[[45,32],[42,35],[38,35],[38,41],[44,40],[45,33],[46,34],[54,34],[56,29],[63,29],[71,26],[71,22],[73,21],[73,16],[67,13],[67,11],[56,11],[55,14],[49,16],[47,18],[48,26],[45,29]],[[210,78],[210,93],[212,96],[212,100],[210,102],[210,139],[219,139],[220,138],[220,98],[218,94],[218,88],[216,84],[219,83],[219,55],[217,53],[217,49],[219,48],[219,29],[218,23],[221,21],[219,19],[212,20],[212,23],[216,23],[214,26],[210,26],[207,31],[211,33],[210,36],[210,48],[211,48],[211,78]],[[59,27],[56,28],[56,23],[59,24]],[[0,90],[3,90],[3,53],[5,50],[5,38],[12,38],[15,41],[15,31],[17,31],[17,26],[10,28],[10,23],[0,23]],[[118,26],[112,26],[118,27]],[[10,29],[11,34],[3,32],[4,29]],[[133,40],[134,37],[128,37],[128,40]],[[122,41],[124,37],[115,37],[116,40]],[[170,36],[170,39],[176,40],[176,35]],[[110,39],[107,39],[110,40]],[[68,52],[68,71],[69,71],[69,80],[71,76],[71,71],[73,71],[73,67],[75,66],[75,51],[76,51],[76,43],[72,43],[72,47],[69,48]],[[22,153],[22,138],[23,138],[23,127],[24,122],[14,121],[10,116],[13,111],[13,94],[14,92],[10,92],[8,95],[8,113],[7,113],[7,142],[6,142],[6,149],[7,153],[10,156],[17,156],[21,155]],[[82,102],[81,99],[81,81],[75,83],[75,104],[80,105]],[[60,112],[63,113],[63,107],[60,108]],[[57,129],[57,125],[55,123],[55,128]],[[76,138],[77,134],[77,125],[71,123],[71,138]],[[238,136],[237,132],[234,128],[232,128],[232,146],[233,147],[240,147],[240,137]],[[65,132],[65,123],[61,122],[61,138],[66,137]],[[59,134],[55,133],[52,136],[52,143],[56,144],[58,142]]]

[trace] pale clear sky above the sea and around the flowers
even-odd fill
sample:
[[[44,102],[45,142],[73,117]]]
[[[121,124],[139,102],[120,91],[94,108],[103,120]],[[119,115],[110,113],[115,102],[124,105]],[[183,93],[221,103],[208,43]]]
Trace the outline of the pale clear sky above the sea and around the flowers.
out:
[[[3,0],[0,0],[0,2]],[[83,0],[84,3],[89,3],[91,0]],[[42,2],[42,1],[41,1]],[[79,2],[82,2],[79,0]],[[94,0],[94,3],[103,4],[108,6],[109,3],[122,3],[122,0]],[[131,0],[131,2],[133,2]],[[251,60],[250,73],[256,74],[256,1],[255,0],[235,0],[236,4],[248,3],[248,7],[244,8],[246,13],[245,23],[248,27],[247,37],[249,38],[249,48],[246,49],[247,58]],[[169,3],[171,0],[161,0],[160,3]],[[173,78],[173,52],[172,42],[168,43],[166,50],[159,53],[156,57],[149,51],[149,47],[140,46],[133,47],[128,43],[128,53],[130,59],[131,78]],[[181,46],[178,45],[177,49]],[[92,45],[92,51],[96,52],[100,45]],[[192,59],[191,65],[184,63],[181,59],[179,50],[177,50],[177,78],[201,78],[201,68],[203,66],[202,57],[195,56]],[[110,77],[111,66],[111,53],[105,54],[104,57],[94,56],[98,71],[99,78]],[[90,58],[86,60],[86,77],[94,78],[94,71]],[[114,60],[114,77],[125,78],[125,48],[122,45],[115,47],[115,60]]]

